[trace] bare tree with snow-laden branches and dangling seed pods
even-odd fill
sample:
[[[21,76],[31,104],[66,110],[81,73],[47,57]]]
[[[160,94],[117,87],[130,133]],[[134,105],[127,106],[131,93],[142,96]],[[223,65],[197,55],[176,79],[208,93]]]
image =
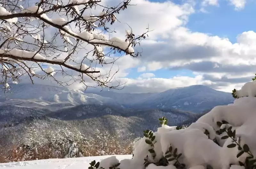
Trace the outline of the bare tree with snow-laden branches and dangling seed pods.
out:
[[[135,36],[130,29],[124,40],[113,36],[110,27],[130,1],[109,7],[104,0],[1,0],[0,83],[9,88],[8,83],[28,76],[32,83],[34,77],[52,78],[62,86],[80,81],[88,87],[89,80],[118,88],[120,82],[112,83],[116,71],[111,66],[102,71],[101,66],[124,55],[140,55],[133,47],[148,33],[147,28]]]

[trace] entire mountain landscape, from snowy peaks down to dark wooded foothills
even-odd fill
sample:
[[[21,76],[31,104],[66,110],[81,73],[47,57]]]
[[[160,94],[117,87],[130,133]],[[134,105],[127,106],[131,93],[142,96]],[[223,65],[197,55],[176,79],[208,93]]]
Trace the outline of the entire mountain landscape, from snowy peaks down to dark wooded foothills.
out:
[[[202,85],[131,94],[18,84],[0,96],[0,144],[20,140],[31,124],[38,130],[76,126],[85,135],[99,129],[141,136],[159,127],[159,117],[166,116],[169,125],[189,124],[203,111],[234,101],[230,93]]]

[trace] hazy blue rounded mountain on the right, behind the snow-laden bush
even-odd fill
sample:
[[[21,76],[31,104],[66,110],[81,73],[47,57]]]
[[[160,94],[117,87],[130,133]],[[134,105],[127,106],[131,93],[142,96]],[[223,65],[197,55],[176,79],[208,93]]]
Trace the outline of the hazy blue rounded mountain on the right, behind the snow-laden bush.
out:
[[[203,85],[175,88],[161,93],[126,94],[103,91],[97,92],[97,94],[112,98],[128,108],[180,109],[197,113],[234,101],[230,93],[214,90]]]

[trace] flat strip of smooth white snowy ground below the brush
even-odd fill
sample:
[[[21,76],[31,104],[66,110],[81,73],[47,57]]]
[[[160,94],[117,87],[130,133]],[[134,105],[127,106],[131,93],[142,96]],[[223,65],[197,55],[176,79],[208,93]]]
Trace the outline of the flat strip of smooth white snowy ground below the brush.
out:
[[[115,155],[120,161],[132,158],[132,155]],[[33,161],[21,161],[13,163],[0,163],[0,168],[6,169],[88,169],[93,160],[100,161],[111,156],[95,156],[63,159],[44,159]]]

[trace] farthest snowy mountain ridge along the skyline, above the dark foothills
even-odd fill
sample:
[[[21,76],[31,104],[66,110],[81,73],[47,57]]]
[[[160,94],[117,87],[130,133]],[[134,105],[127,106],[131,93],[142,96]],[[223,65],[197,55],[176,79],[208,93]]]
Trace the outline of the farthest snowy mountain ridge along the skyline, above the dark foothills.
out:
[[[116,93],[113,91],[81,91],[45,85],[12,85],[11,93],[1,95],[2,105],[58,110],[81,104],[110,105],[129,109],[180,109],[202,112],[234,101],[230,93],[203,85],[170,89],[161,93]]]

